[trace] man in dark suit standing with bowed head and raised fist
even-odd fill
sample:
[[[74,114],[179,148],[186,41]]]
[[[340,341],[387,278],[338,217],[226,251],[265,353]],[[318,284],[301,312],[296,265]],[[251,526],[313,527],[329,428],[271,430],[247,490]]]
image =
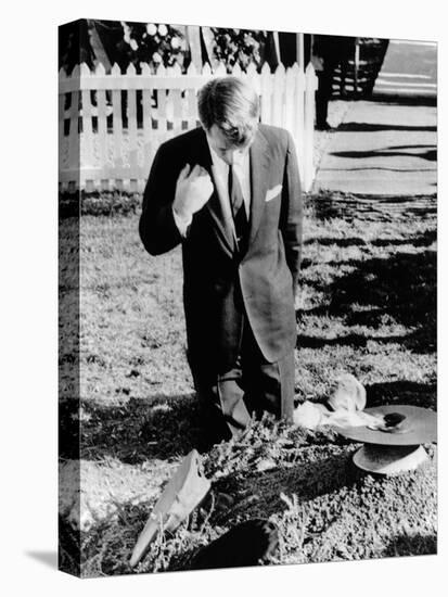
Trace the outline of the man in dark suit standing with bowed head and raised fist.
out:
[[[292,419],[303,205],[290,134],[259,124],[236,77],[199,93],[202,127],[163,143],[140,236],[152,255],[182,243],[188,360],[206,444],[265,410]]]

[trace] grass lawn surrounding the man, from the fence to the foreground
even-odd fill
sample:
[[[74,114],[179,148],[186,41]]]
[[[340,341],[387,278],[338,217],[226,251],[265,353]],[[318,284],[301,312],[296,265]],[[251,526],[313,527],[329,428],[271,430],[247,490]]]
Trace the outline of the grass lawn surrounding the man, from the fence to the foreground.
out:
[[[368,406],[436,409],[436,199],[323,193],[306,213],[297,402],[324,399],[350,372]],[[71,226],[63,221],[67,234]],[[138,214],[82,217],[80,410],[64,370],[73,351],[61,348],[61,558],[76,570],[80,542],[85,576],[131,572],[137,536],[197,437],[180,251],[151,257],[137,227]],[[80,467],[71,445],[79,421]],[[383,480],[353,471],[357,447],[329,429],[256,423],[241,443],[203,455],[212,495],[137,571],[182,569],[197,547],[256,516],[281,530],[273,563],[434,554],[435,446],[422,469]],[[71,526],[79,509],[80,536]]]

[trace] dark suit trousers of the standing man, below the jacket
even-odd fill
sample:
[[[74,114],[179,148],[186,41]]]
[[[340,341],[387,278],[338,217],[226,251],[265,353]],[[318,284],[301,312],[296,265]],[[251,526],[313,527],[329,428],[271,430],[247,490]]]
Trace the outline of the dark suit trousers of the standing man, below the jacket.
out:
[[[294,409],[294,350],[280,360],[263,356],[247,318],[243,316],[240,351],[226,371],[192,368],[200,398],[202,439],[205,446],[238,439],[253,417],[267,411],[292,420]]]

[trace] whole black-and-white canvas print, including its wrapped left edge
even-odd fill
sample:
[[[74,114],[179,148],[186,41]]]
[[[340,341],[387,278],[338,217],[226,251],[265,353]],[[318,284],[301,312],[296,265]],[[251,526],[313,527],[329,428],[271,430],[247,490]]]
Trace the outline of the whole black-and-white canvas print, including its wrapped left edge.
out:
[[[148,16],[59,28],[60,569],[436,555],[437,43]]]

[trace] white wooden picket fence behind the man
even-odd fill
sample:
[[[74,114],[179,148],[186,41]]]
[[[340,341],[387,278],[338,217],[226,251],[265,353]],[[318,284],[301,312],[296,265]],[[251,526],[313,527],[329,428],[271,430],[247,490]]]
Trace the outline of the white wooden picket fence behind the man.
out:
[[[193,65],[180,68],[149,65],[136,73],[130,65],[121,74],[114,65],[106,74],[100,64],[91,72],[86,64],[71,76],[60,72],[59,141],[61,190],[141,191],[159,144],[199,125],[196,92],[212,77],[226,75],[220,65],[201,73]],[[246,77],[258,90],[260,119],[286,128],[293,136],[300,177],[309,190],[313,169],[313,122],[317,77],[312,65],[306,72],[297,64],[274,73],[265,64],[232,75]]]

